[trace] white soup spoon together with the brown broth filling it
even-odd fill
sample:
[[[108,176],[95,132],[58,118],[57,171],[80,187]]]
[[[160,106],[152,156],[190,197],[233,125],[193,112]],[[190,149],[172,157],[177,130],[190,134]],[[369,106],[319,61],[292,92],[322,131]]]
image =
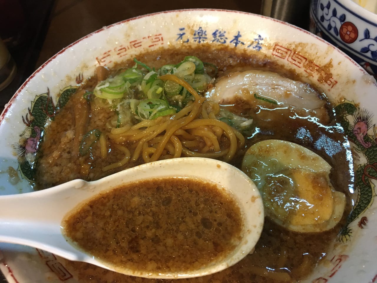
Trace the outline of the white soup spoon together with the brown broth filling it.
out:
[[[147,278],[221,271],[253,251],[264,224],[250,178],[199,157],[1,196],[0,215],[0,241]]]

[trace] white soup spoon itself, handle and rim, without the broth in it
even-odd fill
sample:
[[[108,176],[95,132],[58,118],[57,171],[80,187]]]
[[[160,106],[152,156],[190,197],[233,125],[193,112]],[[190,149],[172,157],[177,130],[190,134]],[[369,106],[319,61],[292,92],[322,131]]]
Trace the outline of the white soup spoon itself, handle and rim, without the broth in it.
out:
[[[75,247],[62,232],[62,220],[80,203],[117,186],[164,177],[195,178],[224,188],[239,205],[243,228],[241,241],[225,258],[211,261],[198,270],[151,273],[116,268]],[[43,249],[68,260],[84,261],[127,275],[146,278],[199,277],[232,266],[253,251],[262,232],[264,210],[254,183],[238,168],[223,161],[184,157],[155,161],[109,175],[96,181],[72,180],[67,183],[17,195],[0,196],[0,241]]]

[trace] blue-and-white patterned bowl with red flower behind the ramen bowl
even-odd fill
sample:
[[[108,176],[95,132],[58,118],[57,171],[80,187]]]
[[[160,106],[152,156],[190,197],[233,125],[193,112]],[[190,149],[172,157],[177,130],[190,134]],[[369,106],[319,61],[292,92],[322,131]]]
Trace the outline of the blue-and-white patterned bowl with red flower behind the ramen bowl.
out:
[[[377,14],[352,0],[311,0],[310,31],[377,76]]]

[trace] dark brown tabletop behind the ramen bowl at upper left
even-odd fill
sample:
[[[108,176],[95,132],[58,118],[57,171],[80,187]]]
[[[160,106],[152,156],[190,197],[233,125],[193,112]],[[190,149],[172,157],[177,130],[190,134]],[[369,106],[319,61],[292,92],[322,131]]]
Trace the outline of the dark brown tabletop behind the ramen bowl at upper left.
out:
[[[0,91],[0,112],[22,83],[70,43],[103,26],[159,11],[216,8],[259,13],[262,0],[0,0],[0,37],[17,64]],[[0,274],[0,282],[6,282]]]

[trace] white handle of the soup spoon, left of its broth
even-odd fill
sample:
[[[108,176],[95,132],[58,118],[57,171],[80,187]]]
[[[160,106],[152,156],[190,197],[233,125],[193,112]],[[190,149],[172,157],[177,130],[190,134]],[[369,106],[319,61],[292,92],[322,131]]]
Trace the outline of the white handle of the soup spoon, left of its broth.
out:
[[[28,245],[81,260],[86,255],[67,243],[60,225],[72,203],[77,204],[70,198],[86,184],[74,180],[44,191],[0,196],[0,242]]]

